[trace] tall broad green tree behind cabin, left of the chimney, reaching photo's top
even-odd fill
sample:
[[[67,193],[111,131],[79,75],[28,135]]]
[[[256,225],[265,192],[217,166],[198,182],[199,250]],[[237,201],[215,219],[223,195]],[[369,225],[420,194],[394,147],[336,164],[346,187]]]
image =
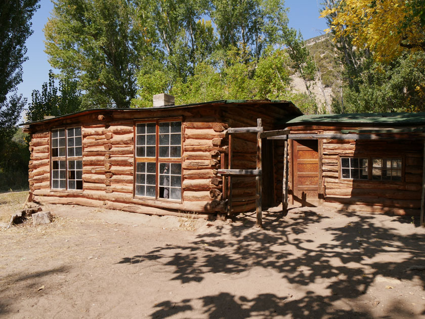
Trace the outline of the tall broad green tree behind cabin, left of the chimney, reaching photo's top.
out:
[[[58,0],[45,27],[49,62],[78,80],[84,107],[130,107],[136,71],[156,34],[147,4],[126,0]]]

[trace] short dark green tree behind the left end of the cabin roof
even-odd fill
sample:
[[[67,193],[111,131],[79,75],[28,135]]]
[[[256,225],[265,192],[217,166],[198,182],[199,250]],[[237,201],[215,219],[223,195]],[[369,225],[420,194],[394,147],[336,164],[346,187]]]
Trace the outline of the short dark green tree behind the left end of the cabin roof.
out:
[[[77,81],[67,77],[59,80],[59,88],[55,86],[55,77],[49,71],[49,81],[41,86],[41,93],[33,90],[31,103],[28,106],[28,121],[39,121],[45,115],[60,116],[81,110],[81,90]]]

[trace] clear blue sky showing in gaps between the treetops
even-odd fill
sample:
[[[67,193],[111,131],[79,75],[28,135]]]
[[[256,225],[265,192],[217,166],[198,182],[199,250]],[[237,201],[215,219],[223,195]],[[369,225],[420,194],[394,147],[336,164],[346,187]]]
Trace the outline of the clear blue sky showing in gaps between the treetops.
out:
[[[50,0],[41,0],[40,9],[32,18],[34,33],[27,39],[28,60],[23,64],[23,81],[18,86],[18,94],[31,101],[32,90],[40,90],[41,84],[47,82],[50,66],[48,56],[44,53],[43,28],[53,10]],[[301,30],[304,39],[323,34],[326,28],[325,20],[319,18],[320,2],[317,0],[286,0],[289,8],[289,26]]]

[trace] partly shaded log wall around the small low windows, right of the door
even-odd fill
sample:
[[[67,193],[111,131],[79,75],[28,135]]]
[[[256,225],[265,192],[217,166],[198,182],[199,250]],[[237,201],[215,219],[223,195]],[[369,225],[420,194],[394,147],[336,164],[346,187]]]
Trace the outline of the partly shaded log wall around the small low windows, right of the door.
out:
[[[314,127],[314,129],[317,133],[337,133],[347,128],[335,130],[335,128]],[[300,133],[300,130],[305,128],[300,127],[293,131]],[[322,174],[325,202],[335,203],[339,208],[347,210],[357,207],[358,210],[370,212],[418,214],[422,189],[422,145],[422,140],[413,136],[410,140],[323,140]],[[339,178],[338,156],[401,157],[403,181]]]

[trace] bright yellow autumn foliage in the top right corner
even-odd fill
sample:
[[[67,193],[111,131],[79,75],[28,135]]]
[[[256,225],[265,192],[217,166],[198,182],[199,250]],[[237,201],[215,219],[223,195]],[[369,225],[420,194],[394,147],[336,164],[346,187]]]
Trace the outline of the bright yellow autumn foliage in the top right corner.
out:
[[[332,16],[334,37],[351,36],[353,45],[374,52],[376,61],[390,61],[403,50],[423,50],[425,33],[405,0],[342,0],[325,8],[321,17]],[[406,23],[409,21],[410,23]]]

